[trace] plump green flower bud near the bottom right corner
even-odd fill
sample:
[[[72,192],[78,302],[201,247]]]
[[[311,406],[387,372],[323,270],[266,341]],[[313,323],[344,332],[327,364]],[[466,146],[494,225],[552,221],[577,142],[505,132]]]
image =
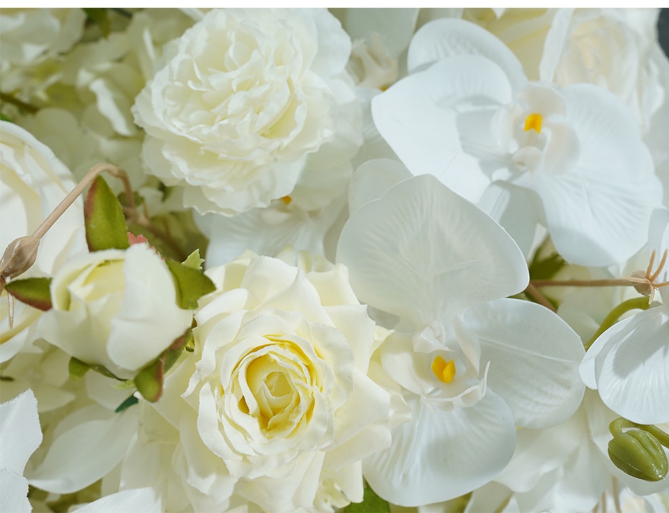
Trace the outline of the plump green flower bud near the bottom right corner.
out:
[[[667,475],[667,455],[652,434],[632,429],[614,434],[608,456],[624,473],[645,481],[659,481]]]

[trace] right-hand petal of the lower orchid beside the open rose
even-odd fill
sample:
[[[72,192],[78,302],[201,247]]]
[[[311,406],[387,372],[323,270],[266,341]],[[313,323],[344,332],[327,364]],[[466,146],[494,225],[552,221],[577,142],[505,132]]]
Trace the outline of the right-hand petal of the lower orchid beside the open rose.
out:
[[[507,401],[516,424],[549,427],[576,411],[585,351],[560,317],[535,303],[500,299],[468,308],[463,322],[479,336],[482,364],[491,362],[488,385]]]

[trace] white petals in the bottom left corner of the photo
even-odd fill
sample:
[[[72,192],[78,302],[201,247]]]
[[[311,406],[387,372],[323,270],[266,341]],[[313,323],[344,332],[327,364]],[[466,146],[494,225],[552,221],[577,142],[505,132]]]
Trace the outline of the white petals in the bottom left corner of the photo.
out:
[[[28,513],[28,480],[23,477],[29,457],[42,443],[37,401],[28,390],[0,405],[0,510]]]

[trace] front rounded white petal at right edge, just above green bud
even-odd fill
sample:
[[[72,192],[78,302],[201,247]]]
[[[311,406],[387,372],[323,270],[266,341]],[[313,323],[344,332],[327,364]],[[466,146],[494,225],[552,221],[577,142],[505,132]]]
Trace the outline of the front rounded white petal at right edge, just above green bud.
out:
[[[599,396],[632,422],[669,422],[669,312],[656,307],[621,324],[597,339],[608,350],[595,362]]]

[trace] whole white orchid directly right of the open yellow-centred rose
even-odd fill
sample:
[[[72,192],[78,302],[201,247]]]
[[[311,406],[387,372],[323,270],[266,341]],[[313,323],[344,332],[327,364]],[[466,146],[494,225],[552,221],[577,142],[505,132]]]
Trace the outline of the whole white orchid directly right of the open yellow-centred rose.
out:
[[[433,176],[356,210],[337,261],[361,301],[399,318],[379,358],[413,420],[363,463],[383,498],[424,505],[471,491],[508,463],[516,425],[557,424],[578,407],[578,335],[544,307],[500,299],[528,283],[518,246]]]

